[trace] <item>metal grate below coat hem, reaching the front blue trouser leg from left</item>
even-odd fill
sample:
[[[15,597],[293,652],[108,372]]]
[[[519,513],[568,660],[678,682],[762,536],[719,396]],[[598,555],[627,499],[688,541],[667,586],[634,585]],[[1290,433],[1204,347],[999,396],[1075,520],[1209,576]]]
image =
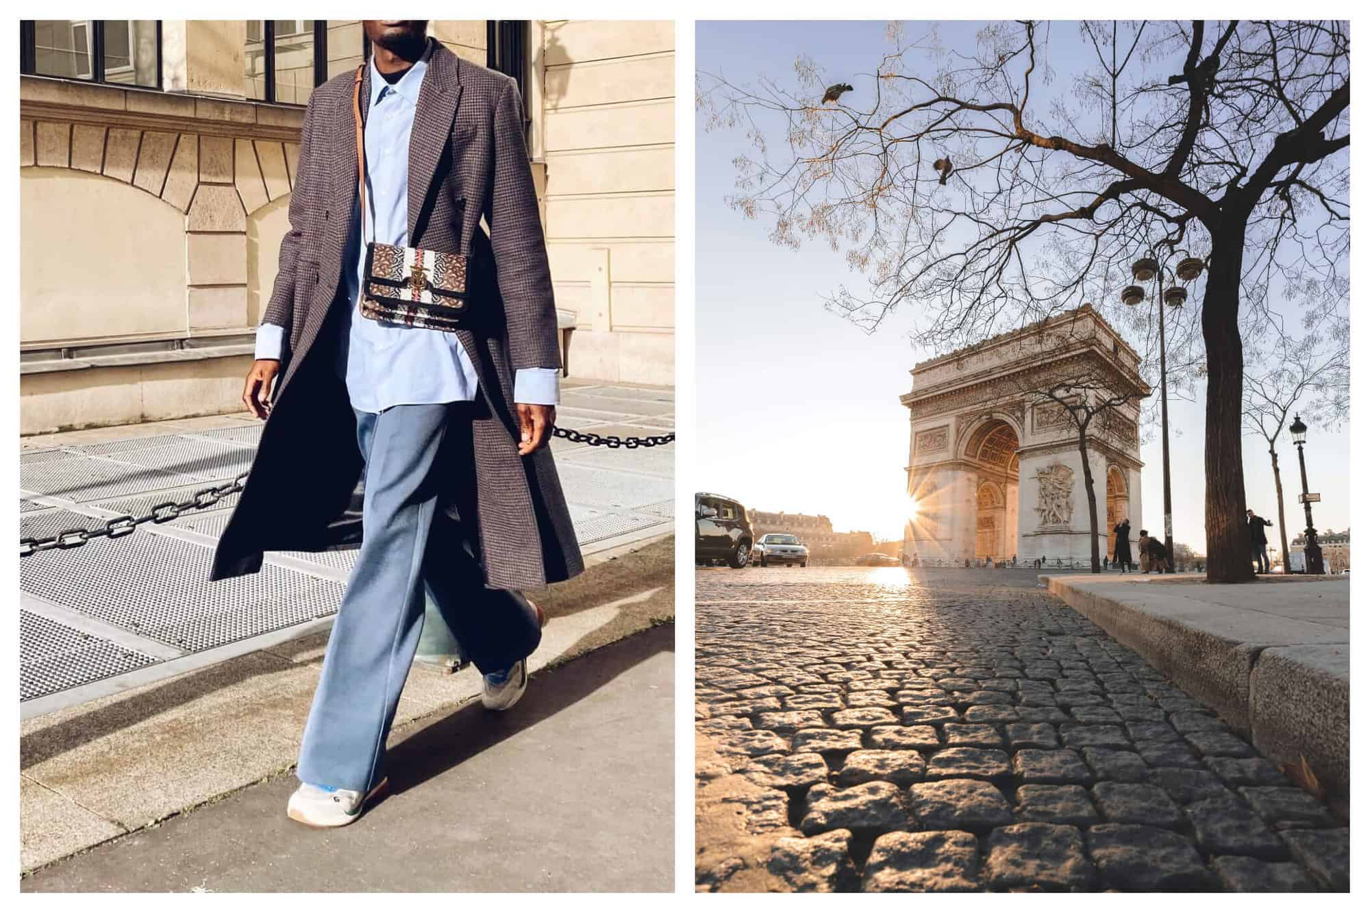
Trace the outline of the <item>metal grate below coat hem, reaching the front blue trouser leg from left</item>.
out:
[[[342,584],[273,565],[210,583],[212,552],[152,533],[81,548],[81,573],[60,551],[25,558],[21,587],[145,637],[208,650],[337,611]],[[155,569],[149,573],[149,569]],[[99,585],[92,585],[99,581]]]

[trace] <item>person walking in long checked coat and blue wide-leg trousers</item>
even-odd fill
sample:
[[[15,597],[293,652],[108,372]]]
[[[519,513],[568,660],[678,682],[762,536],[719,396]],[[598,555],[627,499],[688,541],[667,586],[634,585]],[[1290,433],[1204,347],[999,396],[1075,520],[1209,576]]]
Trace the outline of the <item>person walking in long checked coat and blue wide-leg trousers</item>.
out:
[[[242,393],[267,421],[211,569],[221,580],[260,570],[267,550],[359,547],[288,805],[316,827],[351,824],[386,784],[425,591],[484,673],[482,702],[503,710],[544,622],[518,591],[584,566],[547,447],[560,352],[516,84],[426,37],[426,21],[363,27],[370,60],[306,108]],[[360,313],[373,240],[466,255],[470,322]]]

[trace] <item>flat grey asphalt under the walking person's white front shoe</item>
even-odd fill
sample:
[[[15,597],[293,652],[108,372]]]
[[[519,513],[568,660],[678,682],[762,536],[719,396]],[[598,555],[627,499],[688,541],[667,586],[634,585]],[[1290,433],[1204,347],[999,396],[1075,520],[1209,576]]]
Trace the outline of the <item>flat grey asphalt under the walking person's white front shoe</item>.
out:
[[[100,846],[23,891],[670,891],[674,626],[538,674],[507,714],[412,728],[356,824],[285,817],[274,779]]]

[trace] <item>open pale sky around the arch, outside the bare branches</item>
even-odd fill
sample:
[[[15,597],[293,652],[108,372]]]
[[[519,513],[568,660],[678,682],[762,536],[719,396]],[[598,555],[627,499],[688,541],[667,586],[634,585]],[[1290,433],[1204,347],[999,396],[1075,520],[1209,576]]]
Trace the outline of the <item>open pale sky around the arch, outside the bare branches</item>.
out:
[[[733,82],[764,74],[793,85],[800,53],[832,81],[870,73],[886,48],[885,22],[700,22],[696,66]],[[910,23],[910,37],[925,26]],[[973,48],[977,23],[948,22],[949,47]],[[1051,33],[1056,86],[1066,85],[1080,48],[1073,23]],[[848,80],[852,81],[852,80]],[[867,80],[869,85],[869,80]],[[703,118],[696,115],[696,127]],[[907,318],[895,314],[867,336],[823,310],[822,295],[841,284],[862,288],[841,255],[822,243],[800,252],[767,240],[764,221],[730,210],[733,159],[748,149],[737,132],[696,129],[696,378],[699,462],[696,488],[740,498],[749,507],[823,513],[836,529],[897,537],[904,520],[908,391],[915,348]],[[1171,499],[1175,540],[1203,551],[1203,391],[1199,402],[1170,402]],[[1349,524],[1349,436],[1312,429],[1308,484],[1322,492],[1318,529]],[[1162,525],[1160,437],[1143,444],[1144,522]],[[1285,520],[1303,529],[1297,452],[1281,443]],[[1260,439],[1244,448],[1248,504],[1274,518],[1274,481]],[[1136,525],[1136,522],[1134,522]],[[1278,541],[1278,536],[1271,536]]]

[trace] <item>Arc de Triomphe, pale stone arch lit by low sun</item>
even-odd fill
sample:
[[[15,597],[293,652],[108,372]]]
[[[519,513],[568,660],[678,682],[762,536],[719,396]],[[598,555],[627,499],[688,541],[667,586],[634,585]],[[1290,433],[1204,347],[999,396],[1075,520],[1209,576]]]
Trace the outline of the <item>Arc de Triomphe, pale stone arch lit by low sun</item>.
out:
[[[1089,502],[1075,424],[1043,391],[1078,381],[1077,398],[1129,402],[1097,415],[1086,454],[1099,506],[1099,554],[1112,528],[1141,515],[1140,400],[1151,393],[1141,359],[1085,304],[910,372],[910,520],[904,555],[919,562],[985,558],[1089,563]],[[1155,532],[1155,531],[1154,531]]]

